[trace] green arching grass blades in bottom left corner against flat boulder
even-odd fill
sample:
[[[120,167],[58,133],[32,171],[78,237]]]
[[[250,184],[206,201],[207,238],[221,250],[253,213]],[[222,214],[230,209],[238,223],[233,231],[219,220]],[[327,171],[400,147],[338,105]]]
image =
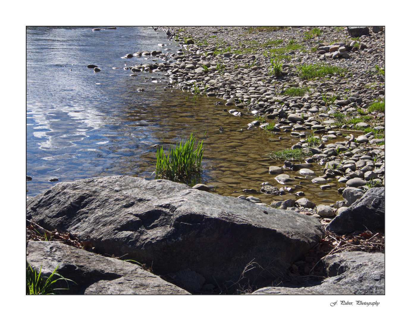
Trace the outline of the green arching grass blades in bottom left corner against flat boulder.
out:
[[[49,277],[42,276],[42,265],[40,266],[39,273],[37,273],[35,268],[32,268],[30,264],[27,264],[26,269],[26,294],[55,294],[55,290],[68,290],[69,283],[67,281],[72,281],[66,279],[62,275],[56,273],[58,265],[54,269],[53,273]],[[55,276],[58,276],[58,279],[54,279]],[[67,289],[53,289],[53,283],[58,280],[65,280],[67,282]],[[74,281],[72,281],[74,282]],[[76,283],[76,282],[74,282]]]

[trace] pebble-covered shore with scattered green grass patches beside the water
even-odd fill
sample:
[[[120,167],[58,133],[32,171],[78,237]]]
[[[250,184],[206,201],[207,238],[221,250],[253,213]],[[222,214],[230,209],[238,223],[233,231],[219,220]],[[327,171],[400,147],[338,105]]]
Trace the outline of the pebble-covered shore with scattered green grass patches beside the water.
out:
[[[262,186],[261,192],[304,196],[295,187],[308,183],[326,197],[330,189],[343,193],[353,187],[363,193],[385,185],[383,27],[155,30],[163,30],[182,47],[169,57],[177,60],[168,70],[172,85],[222,99],[222,110],[233,117],[254,115],[249,130],[299,139],[290,150],[270,153],[272,159],[285,161],[282,168],[269,169],[284,187]],[[324,166],[322,176],[310,171],[313,163]],[[298,200],[296,207],[285,202],[272,205],[308,209]],[[323,211],[316,208],[315,215],[332,217],[347,204],[330,205]]]

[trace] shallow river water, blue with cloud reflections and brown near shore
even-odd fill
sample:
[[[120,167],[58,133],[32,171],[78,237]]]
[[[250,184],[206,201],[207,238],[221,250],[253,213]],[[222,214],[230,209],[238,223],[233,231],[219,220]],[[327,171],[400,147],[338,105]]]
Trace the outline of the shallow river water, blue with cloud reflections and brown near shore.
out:
[[[164,44],[164,46],[158,46]],[[205,134],[202,183],[212,192],[238,196],[242,189],[260,189],[274,180],[268,167],[283,162],[268,158],[272,150],[289,148],[298,138],[247,130],[251,115],[233,116],[214,103],[221,99],[198,97],[167,88],[168,75],[142,72],[136,77],[123,68],[159,58],[122,58],[137,51],[181,49],[164,32],[148,27],[118,27],[93,31],[82,27],[27,28],[27,196],[57,182],[110,175],[154,179],[155,151],[163,141],[174,143],[184,134]],[[169,50],[166,50],[169,49]],[[159,60],[161,61],[161,60]],[[174,60],[168,59],[168,62]],[[95,73],[86,66],[99,66]],[[117,69],[113,69],[117,68]],[[138,90],[143,89],[143,91]],[[224,131],[219,132],[219,127]],[[314,164],[319,175],[322,167]],[[288,173],[291,177],[296,173]],[[50,182],[50,179],[58,179]],[[340,187],[323,191],[309,181],[298,184],[305,197],[328,204],[342,200]],[[253,194],[261,201],[298,199],[287,194]]]

